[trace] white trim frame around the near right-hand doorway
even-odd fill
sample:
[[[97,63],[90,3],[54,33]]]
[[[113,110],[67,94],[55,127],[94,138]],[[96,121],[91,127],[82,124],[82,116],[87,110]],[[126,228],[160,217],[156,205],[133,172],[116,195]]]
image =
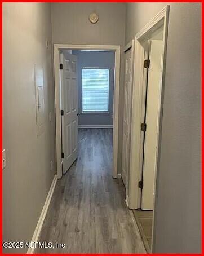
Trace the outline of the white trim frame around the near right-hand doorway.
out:
[[[131,153],[130,153],[130,189],[129,189],[129,207],[131,209],[140,208],[141,189],[138,188],[138,182],[141,178],[141,163],[143,158],[143,133],[140,130],[140,123],[144,120],[144,95],[145,83],[147,80],[146,70],[144,69],[144,58],[147,56],[146,43],[152,38],[156,30],[163,26],[163,56],[161,64],[161,95],[159,104],[159,132],[157,138],[157,171],[156,171],[156,188],[154,191],[154,211],[153,211],[153,229],[152,229],[152,248],[154,248],[154,233],[156,223],[154,214],[157,204],[157,179],[159,175],[159,154],[161,146],[161,129],[162,129],[162,112],[163,112],[163,87],[165,83],[165,62],[167,48],[167,33],[168,33],[168,16],[169,6],[167,5],[159,12],[152,20],[149,21],[135,37],[135,67],[134,67],[134,86],[132,92],[132,123],[131,123]],[[138,188],[138,189],[137,189]]]

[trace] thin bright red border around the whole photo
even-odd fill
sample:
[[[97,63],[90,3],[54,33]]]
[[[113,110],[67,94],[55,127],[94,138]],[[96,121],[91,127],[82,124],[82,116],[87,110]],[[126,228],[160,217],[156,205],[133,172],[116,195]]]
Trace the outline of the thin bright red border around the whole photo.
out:
[[[102,2],[102,1],[86,1],[86,0],[82,0],[82,1],[79,1],[79,0],[77,0],[77,1],[64,1],[64,0],[61,0],[61,1],[59,1],[59,0],[56,0],[56,1],[50,1],[50,0],[43,0],[43,1],[40,1],[40,0],[36,0],[36,1],[30,1],[30,0],[28,0],[28,1],[1,1],[1,5],[0,5],[0,9],[1,9],[1,51],[0,51],[1,67],[2,67],[2,4],[3,4],[3,2]],[[107,1],[107,0],[105,0],[103,2],[153,2],[153,1],[148,1],[148,0],[143,0],[143,1],[132,1],[132,0],[130,0],[130,1],[126,1],[126,0],[125,1],[123,1],[123,0]],[[154,2],[165,2],[165,1],[154,1]],[[197,3],[201,3],[201,9],[202,9],[202,16],[201,16],[202,17],[202,29],[201,29],[201,33],[203,35],[203,31],[204,31],[204,28],[203,28],[203,16],[204,16],[203,2],[204,2],[204,0],[202,0],[202,1],[184,1],[184,0],[174,1],[173,0],[171,2],[188,2],[188,3],[190,3],[190,2],[197,2]],[[202,43],[201,45],[202,45],[202,48],[203,48],[203,45],[204,45],[203,40],[202,40],[201,43]],[[203,63],[203,54],[201,55],[201,63]],[[203,65],[202,65],[202,74],[203,73],[204,73],[204,68],[203,68]],[[2,81],[2,68],[1,68],[0,76],[1,76],[1,81]],[[201,81],[202,81],[202,76],[201,76]],[[2,83],[3,83],[3,81],[1,82],[1,92],[0,92],[0,101],[1,101],[1,103],[2,103]],[[202,81],[201,99],[203,98],[203,96],[204,96],[204,86],[203,86],[203,81]],[[1,120],[1,137],[0,138],[1,138],[1,144],[2,144],[2,109],[3,109],[3,107],[2,107],[2,104],[1,104],[1,112],[0,112],[0,120]],[[201,115],[202,120],[204,118],[203,110],[204,110],[204,101],[202,101],[202,115]],[[201,134],[203,134],[203,133],[204,133],[204,126],[202,125]],[[202,138],[202,136],[201,136],[201,138]],[[204,151],[203,139],[202,139],[202,146],[201,147],[202,147],[201,148],[201,152],[203,152]],[[204,157],[203,156],[202,156],[201,160],[202,160],[201,167],[203,169],[203,166],[204,166],[204,164],[203,164]],[[2,155],[1,155],[1,162],[2,162]],[[204,175],[203,175],[203,173],[202,173],[201,182],[202,182],[202,184],[204,184]],[[0,184],[1,184],[1,188],[2,188],[2,175],[0,175]],[[203,215],[204,215],[203,196],[204,196],[204,188],[202,186],[202,207],[201,207],[201,209],[202,209],[202,220],[203,220]],[[0,224],[1,224],[1,227],[3,227],[2,226],[2,189],[1,189],[1,196],[0,196],[0,210],[1,210]],[[201,254],[204,254],[204,250],[203,250],[203,248],[204,248],[204,236],[203,236],[204,222],[202,221],[201,223],[202,223],[201,224],[201,233],[202,233],[201,234],[202,235],[202,238],[201,238],[202,239]],[[0,242],[2,244],[2,232],[0,232]],[[171,255],[178,255],[178,254],[168,254],[168,255],[171,256]],[[183,254],[183,255],[201,255],[201,254]],[[3,254],[2,253],[2,247],[1,247],[0,255],[23,255],[23,253]],[[38,254],[38,255],[45,255],[45,254]],[[46,254],[46,255],[48,255],[48,254]],[[52,255],[87,255],[87,254],[52,254]],[[92,254],[92,255],[95,255],[95,254]],[[122,254],[97,254],[97,255],[101,255],[102,256],[102,255],[122,255]],[[147,255],[147,254],[127,254],[127,255]],[[154,255],[165,255],[165,254],[154,254]]]

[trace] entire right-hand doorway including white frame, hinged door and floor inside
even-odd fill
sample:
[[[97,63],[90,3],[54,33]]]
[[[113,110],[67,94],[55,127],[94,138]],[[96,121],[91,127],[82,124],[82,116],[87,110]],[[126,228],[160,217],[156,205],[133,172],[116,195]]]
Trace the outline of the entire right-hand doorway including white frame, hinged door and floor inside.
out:
[[[168,12],[166,6],[135,37],[130,189],[126,199],[148,253],[154,246]]]

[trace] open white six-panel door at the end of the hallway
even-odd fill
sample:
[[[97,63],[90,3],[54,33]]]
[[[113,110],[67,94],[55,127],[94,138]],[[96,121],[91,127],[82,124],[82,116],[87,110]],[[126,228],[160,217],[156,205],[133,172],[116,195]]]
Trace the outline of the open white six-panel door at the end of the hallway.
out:
[[[61,69],[61,136],[63,173],[77,158],[78,116],[77,116],[77,58],[63,51],[60,54]]]

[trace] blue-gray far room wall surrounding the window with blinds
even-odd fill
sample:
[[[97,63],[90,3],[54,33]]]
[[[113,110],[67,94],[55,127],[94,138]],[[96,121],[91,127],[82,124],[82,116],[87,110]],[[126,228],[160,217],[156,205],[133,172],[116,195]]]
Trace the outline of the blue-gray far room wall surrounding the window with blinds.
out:
[[[78,112],[82,112],[82,68],[98,67],[109,68],[109,113],[85,114],[78,118],[79,125],[113,125],[113,89],[114,89],[114,64],[113,51],[72,51],[77,56],[78,77]]]

